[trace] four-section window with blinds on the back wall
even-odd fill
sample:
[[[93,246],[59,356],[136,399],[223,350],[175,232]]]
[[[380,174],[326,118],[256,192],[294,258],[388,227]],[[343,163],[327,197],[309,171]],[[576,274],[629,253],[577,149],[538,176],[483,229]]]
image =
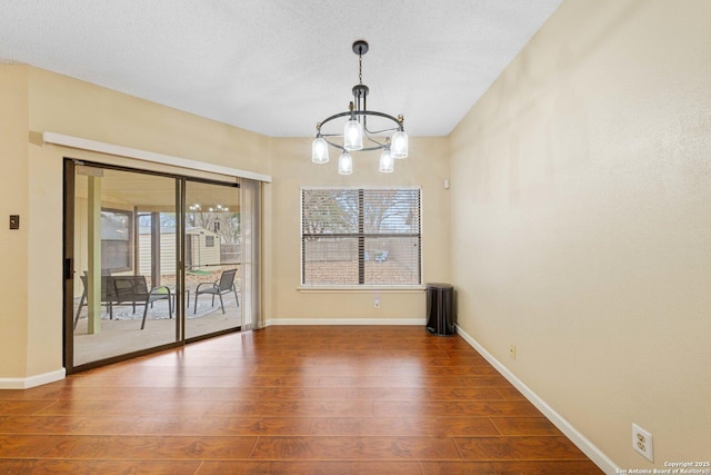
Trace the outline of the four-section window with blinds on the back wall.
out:
[[[422,281],[419,188],[301,190],[301,284]]]

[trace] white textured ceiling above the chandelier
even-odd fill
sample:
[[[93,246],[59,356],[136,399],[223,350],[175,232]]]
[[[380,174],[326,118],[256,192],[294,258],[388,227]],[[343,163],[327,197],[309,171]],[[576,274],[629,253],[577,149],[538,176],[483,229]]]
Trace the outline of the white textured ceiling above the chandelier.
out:
[[[82,79],[271,137],[344,111],[445,136],[562,0],[0,0],[0,62]]]

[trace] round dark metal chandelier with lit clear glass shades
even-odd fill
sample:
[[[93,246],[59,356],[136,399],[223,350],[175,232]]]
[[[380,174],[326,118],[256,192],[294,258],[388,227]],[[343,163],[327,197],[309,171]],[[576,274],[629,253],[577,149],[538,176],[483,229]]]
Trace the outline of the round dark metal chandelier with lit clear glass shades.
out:
[[[369,89],[363,85],[363,55],[368,52],[368,42],[364,40],[356,41],[353,52],[358,55],[359,79],[359,83],[353,86],[353,100],[346,112],[334,113],[316,125],[316,138],[311,145],[311,160],[314,164],[328,162],[329,146],[331,146],[341,151],[338,158],[338,172],[350,175],[353,172],[352,151],[382,150],[378,170],[390,174],[394,169],[394,159],[408,156],[408,135],[404,132],[404,119],[402,116],[394,118],[384,112],[368,110],[365,98]],[[377,121],[377,127],[372,130],[368,127],[369,117],[373,118],[371,121]],[[326,133],[324,126],[340,118],[348,118],[342,129],[343,132]],[[390,135],[391,132],[392,135]],[[343,137],[343,145],[332,141],[333,137]]]

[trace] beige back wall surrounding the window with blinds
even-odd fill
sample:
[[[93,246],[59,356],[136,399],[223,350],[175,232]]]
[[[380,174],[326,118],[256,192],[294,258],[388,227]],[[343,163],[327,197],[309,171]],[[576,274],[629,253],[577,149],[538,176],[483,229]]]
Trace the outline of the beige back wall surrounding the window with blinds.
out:
[[[378,171],[378,155],[353,154],[353,175],[338,175],[338,154],[331,161],[311,162],[311,139],[272,141],[274,186],[272,190],[271,247],[273,310],[279,323],[311,323],[313,319],[368,318],[374,321],[417,319],[424,321],[424,294],[418,291],[300,291],[301,188],[310,186],[421,186],[423,281],[449,278],[449,178],[448,145],[444,138],[410,139],[410,156],[395,160],[393,174]],[[373,300],[380,298],[380,308]],[[317,320],[318,323],[318,320]]]

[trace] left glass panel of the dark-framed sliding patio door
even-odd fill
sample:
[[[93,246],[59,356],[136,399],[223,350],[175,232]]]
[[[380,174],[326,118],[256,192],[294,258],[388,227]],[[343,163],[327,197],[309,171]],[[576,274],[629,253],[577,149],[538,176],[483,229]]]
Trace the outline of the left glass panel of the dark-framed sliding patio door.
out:
[[[180,180],[73,168],[70,366],[180,342]]]

